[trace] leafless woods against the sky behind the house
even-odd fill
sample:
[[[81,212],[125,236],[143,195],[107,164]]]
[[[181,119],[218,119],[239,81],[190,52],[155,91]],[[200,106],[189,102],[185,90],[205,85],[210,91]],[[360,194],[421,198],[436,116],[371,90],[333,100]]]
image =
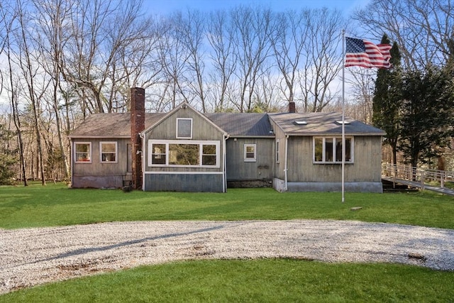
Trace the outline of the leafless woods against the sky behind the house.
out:
[[[145,88],[150,112],[167,112],[182,101],[204,113],[283,111],[289,101],[298,111],[339,111],[343,28],[375,43],[387,34],[395,43],[402,60],[387,72],[402,71],[410,94],[396,97],[392,86],[381,89],[394,96],[387,100],[399,101],[394,126],[409,129],[407,120],[421,119],[409,111],[416,106],[411,83],[429,74],[452,75],[453,23],[450,0],[373,0],[352,16],[336,9],[277,12],[266,6],[157,16],[140,0],[1,2],[0,183],[11,177],[24,184],[68,180],[67,135],[90,114],[127,112],[130,87]],[[372,123],[380,72],[345,72],[349,116]],[[454,84],[453,77],[443,79],[417,100],[443,102],[427,107],[426,113],[444,118],[421,121],[430,128],[421,133],[446,139],[452,136]],[[383,108],[375,105],[375,117],[387,115],[379,114]],[[374,119],[387,131],[379,121]],[[432,135],[424,135],[432,153],[419,150],[416,162],[449,155],[449,142]],[[416,141],[400,131],[395,140],[396,150],[413,164],[405,147]],[[451,162],[446,157],[446,165]]]

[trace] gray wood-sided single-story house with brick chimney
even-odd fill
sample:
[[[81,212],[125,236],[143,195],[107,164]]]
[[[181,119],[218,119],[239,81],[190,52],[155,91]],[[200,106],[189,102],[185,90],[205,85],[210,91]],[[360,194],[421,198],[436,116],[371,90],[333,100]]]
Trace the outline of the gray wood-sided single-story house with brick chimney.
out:
[[[226,192],[228,187],[341,191],[342,116],[331,113],[202,114],[183,103],[145,113],[131,89],[131,114],[93,114],[70,135],[72,187]],[[384,132],[345,123],[345,190],[382,192]]]

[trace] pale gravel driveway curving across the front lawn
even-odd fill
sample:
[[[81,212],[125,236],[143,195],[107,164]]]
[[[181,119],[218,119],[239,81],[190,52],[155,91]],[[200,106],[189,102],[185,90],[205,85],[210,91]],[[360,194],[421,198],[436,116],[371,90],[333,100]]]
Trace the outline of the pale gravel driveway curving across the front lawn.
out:
[[[454,230],[360,221],[138,221],[0,229],[0,294],[173,260],[303,258],[454,270]]]

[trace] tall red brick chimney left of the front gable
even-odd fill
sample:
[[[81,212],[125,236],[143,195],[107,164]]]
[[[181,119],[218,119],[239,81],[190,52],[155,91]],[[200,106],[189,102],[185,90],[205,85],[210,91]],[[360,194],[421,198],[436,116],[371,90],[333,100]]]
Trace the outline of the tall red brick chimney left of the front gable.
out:
[[[142,188],[142,140],[139,136],[145,130],[145,89],[131,87],[131,146],[133,189]]]

